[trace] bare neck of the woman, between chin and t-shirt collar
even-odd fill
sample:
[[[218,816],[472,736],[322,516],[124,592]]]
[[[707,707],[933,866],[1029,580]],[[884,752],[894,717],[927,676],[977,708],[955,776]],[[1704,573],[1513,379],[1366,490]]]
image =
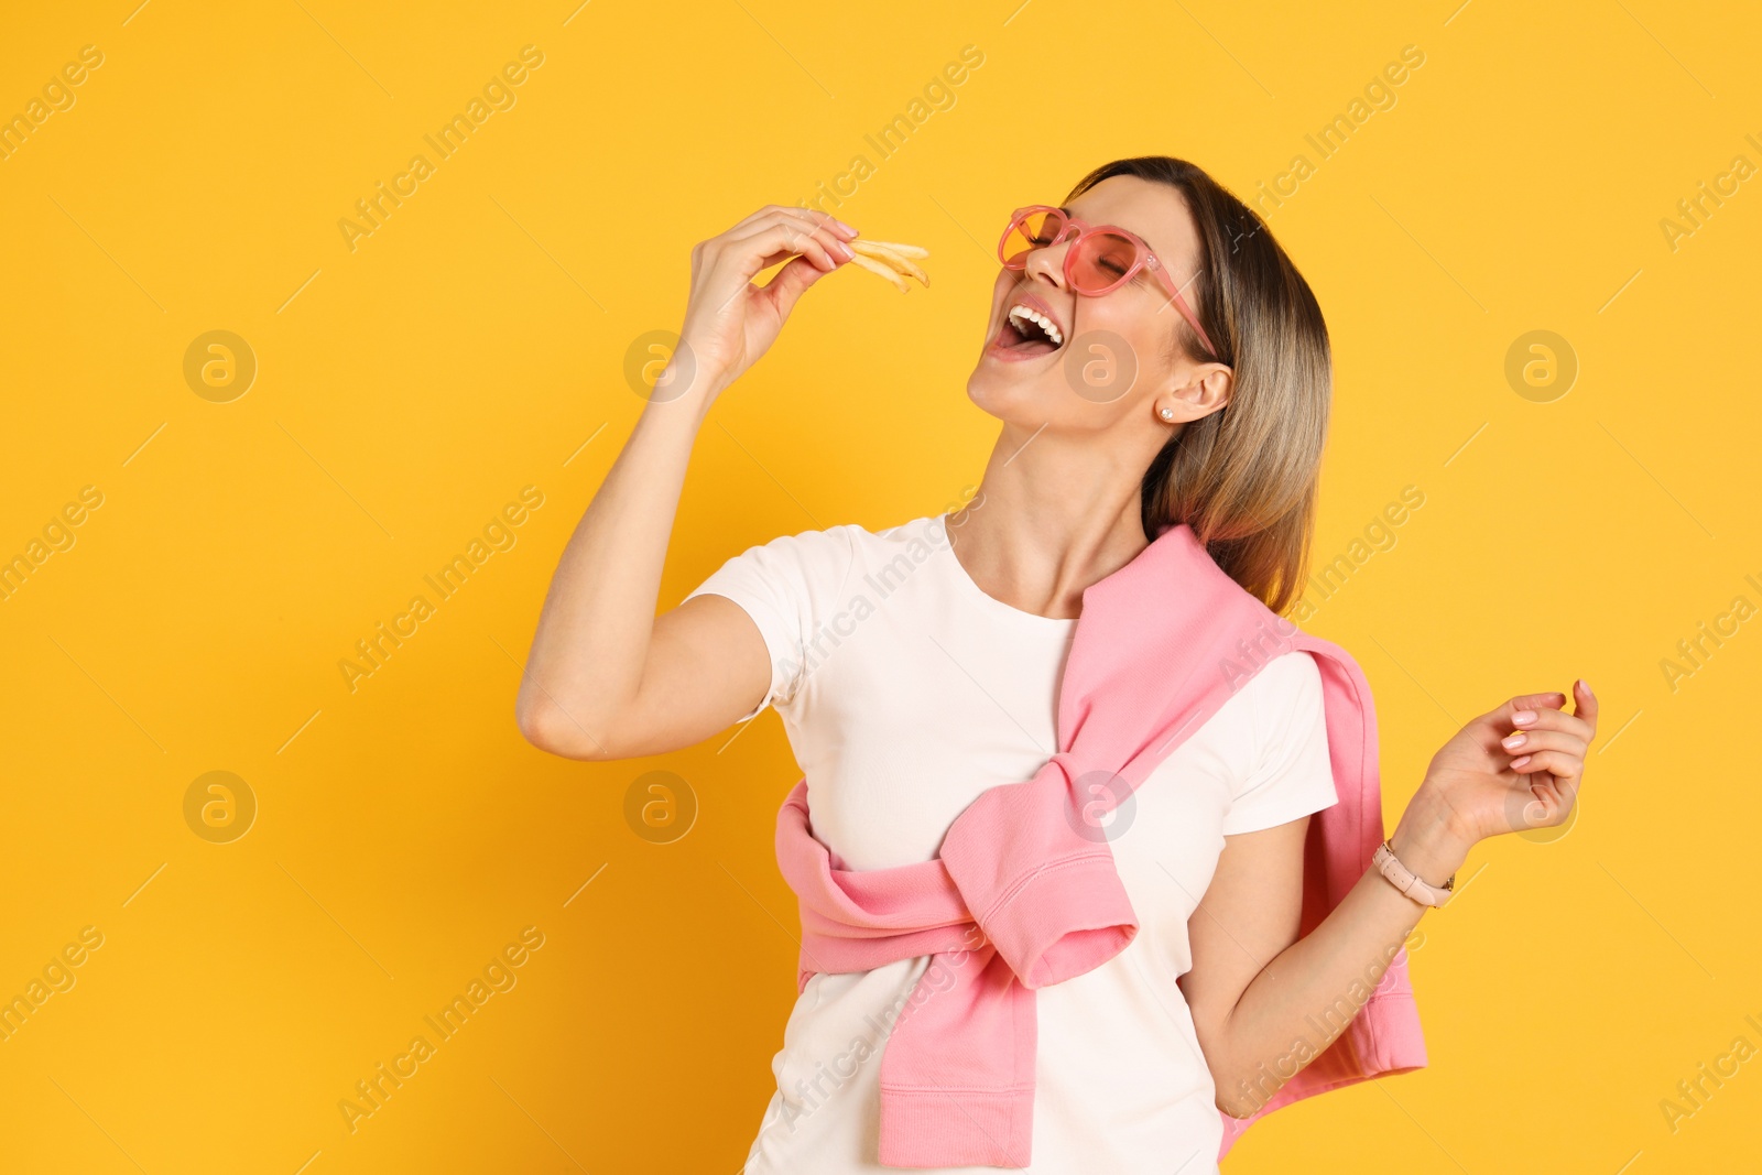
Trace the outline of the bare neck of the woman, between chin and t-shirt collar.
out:
[[[1094,439],[1004,425],[978,493],[948,520],[955,557],[1011,608],[1080,617],[1084,588],[1149,546],[1144,467],[1098,454]]]

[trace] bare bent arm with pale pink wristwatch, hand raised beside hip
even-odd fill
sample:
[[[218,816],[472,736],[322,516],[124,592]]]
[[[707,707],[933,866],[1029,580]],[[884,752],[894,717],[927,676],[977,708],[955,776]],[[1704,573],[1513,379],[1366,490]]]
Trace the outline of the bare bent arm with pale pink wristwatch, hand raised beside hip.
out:
[[[1512,698],[1450,738],[1388,839],[1401,863],[1441,886],[1477,842],[1561,824],[1596,736],[1591,689],[1575,682],[1572,713],[1565,703],[1559,692]],[[1237,1119],[1346,1029],[1429,909],[1369,867],[1299,939],[1307,826],[1306,816],[1226,837],[1188,923],[1193,969],[1181,988],[1218,1108]]]

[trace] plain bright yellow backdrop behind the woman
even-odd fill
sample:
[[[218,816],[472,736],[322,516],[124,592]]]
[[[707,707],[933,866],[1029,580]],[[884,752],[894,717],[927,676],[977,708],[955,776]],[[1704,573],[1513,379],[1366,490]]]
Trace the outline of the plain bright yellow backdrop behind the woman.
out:
[[[1762,164],[1753,5],[132,2],[0,37],[5,115],[104,55],[0,162],[0,555],[104,495],[0,601],[0,995],[104,935],[0,1043],[0,1170],[738,1170],[793,999],[781,726],[589,766],[527,745],[513,699],[691,245],[858,153],[839,213],[927,245],[934,285],[811,291],[703,432],[663,606],[749,544],[976,481],[994,423],[964,379],[1010,208],[1121,155],[1242,196],[1309,155],[1270,225],[1336,352],[1318,557],[1425,495],[1306,624],[1376,689],[1387,821],[1514,692],[1584,675],[1603,728],[1572,830],[1478,846],[1422,921],[1431,1066],[1281,1110],[1226,1166],[1755,1163],[1762,1060],[1674,1133],[1660,1110],[1762,1046],[1762,622],[1674,691],[1660,669],[1762,604],[1762,181],[1674,250],[1660,229]],[[516,106],[351,252],[356,199],[527,44]],[[863,136],[969,44],[955,106],[879,160]],[[1306,132],[1408,44],[1397,104],[1318,162]],[[259,363],[229,403],[183,379],[211,329]],[[1505,379],[1533,329],[1581,365],[1551,403]],[[529,484],[518,543],[351,692],[354,641]],[[657,768],[700,803],[673,844],[624,819]],[[231,844],[183,817],[213,770],[259,805]],[[518,985],[351,1134],[338,1101],[525,927]]]

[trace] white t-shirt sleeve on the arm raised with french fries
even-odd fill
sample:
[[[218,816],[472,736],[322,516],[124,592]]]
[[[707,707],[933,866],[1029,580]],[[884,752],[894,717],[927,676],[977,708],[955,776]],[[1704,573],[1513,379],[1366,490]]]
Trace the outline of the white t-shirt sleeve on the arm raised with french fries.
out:
[[[805,530],[763,546],[749,546],[698,585],[692,595],[724,595],[758,625],[772,661],[765,698],[740,717],[758,717],[765,706],[786,705],[809,669],[809,643],[855,560],[848,527]]]

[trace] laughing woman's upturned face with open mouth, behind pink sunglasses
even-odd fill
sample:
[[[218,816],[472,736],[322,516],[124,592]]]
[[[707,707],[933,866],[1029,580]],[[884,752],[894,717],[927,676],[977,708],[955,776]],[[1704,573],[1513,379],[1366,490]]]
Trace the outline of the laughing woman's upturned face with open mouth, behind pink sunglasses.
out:
[[[1089,224],[1112,224],[1142,236],[1188,303],[1195,301],[1196,285],[1189,282],[1200,240],[1179,190],[1138,176],[1112,176],[1066,208]],[[1158,277],[1140,270],[1119,289],[1084,298],[1064,280],[1070,248],[1066,240],[1029,252],[1025,270],[999,268],[985,349],[967,377],[967,396],[992,416],[1029,430],[1110,432],[1124,425],[1166,432],[1221,407],[1216,396],[1198,395],[1198,381],[1226,368],[1195,361],[1175,347],[1182,319]],[[1064,342],[1020,342],[1010,310],[1024,303],[1050,317]],[[1226,395],[1228,375],[1209,382],[1214,391],[1221,384]],[[1175,410],[1173,419],[1158,414],[1163,407]]]

